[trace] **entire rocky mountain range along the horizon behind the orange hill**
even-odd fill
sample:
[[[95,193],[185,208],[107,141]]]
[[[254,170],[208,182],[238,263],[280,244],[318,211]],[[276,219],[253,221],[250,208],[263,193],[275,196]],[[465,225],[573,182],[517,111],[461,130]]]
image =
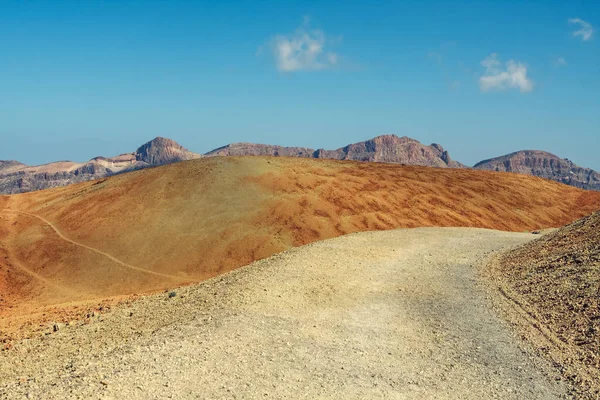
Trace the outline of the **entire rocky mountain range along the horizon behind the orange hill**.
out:
[[[437,168],[468,168],[454,161],[439,144],[427,146],[415,139],[396,135],[377,136],[336,150],[233,143],[204,155],[191,152],[171,139],[157,137],[133,153],[110,158],[96,157],[85,163],[60,161],[27,166],[18,161],[0,161],[0,194],[24,193],[65,186],[142,168],[217,156],[327,158]],[[473,168],[534,175],[582,189],[600,190],[600,174],[543,151],[519,151],[482,161]]]

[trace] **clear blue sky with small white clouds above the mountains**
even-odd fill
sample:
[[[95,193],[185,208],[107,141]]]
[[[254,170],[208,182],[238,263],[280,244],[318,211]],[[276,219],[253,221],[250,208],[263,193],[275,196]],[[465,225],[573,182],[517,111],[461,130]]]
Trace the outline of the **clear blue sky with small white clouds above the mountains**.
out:
[[[395,133],[600,170],[598,28],[595,0],[5,0],[0,159]]]

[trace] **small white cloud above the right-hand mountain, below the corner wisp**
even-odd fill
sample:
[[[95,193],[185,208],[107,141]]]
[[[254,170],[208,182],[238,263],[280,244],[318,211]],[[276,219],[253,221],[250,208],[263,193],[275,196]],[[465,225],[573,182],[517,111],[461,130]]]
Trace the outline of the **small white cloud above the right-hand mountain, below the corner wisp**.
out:
[[[502,66],[498,55],[493,53],[484,58],[481,65],[485,67],[485,73],[479,78],[482,92],[519,89],[525,93],[533,90],[533,82],[527,78],[527,66],[521,62],[509,60]]]

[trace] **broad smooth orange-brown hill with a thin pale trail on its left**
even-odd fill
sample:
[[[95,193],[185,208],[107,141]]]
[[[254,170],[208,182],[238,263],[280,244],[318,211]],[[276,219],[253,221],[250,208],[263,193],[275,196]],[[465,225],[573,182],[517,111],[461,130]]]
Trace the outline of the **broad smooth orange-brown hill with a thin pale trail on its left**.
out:
[[[600,209],[600,193],[486,171],[225,157],[4,196],[0,209],[6,313],[200,281],[351,232],[561,226]]]

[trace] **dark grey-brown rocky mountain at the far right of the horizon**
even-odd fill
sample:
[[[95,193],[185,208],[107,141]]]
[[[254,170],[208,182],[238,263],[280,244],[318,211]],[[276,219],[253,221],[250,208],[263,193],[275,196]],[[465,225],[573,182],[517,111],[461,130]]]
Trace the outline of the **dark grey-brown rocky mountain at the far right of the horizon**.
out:
[[[581,189],[600,190],[600,174],[598,172],[540,150],[517,151],[481,161],[473,168],[534,175]]]

